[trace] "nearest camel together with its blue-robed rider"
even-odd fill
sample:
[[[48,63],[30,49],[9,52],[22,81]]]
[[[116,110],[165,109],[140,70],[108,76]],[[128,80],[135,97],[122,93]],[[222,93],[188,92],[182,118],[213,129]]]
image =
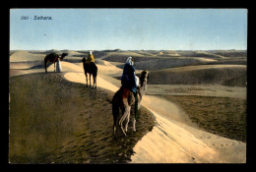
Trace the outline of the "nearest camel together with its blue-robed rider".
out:
[[[143,71],[140,79],[135,76],[135,68],[133,67],[134,59],[128,57],[124,66],[121,84],[122,86],[117,90],[112,99],[112,113],[113,113],[113,134],[115,137],[117,130],[117,119],[120,116],[119,125],[121,130],[126,136],[128,130],[128,123],[132,114],[133,118],[133,131],[136,131],[135,124],[138,118],[138,110],[143,95],[147,89],[147,83],[149,79],[149,72]],[[119,110],[121,109],[121,114]],[[134,112],[134,113],[131,113]],[[123,122],[126,120],[125,130],[123,128]]]

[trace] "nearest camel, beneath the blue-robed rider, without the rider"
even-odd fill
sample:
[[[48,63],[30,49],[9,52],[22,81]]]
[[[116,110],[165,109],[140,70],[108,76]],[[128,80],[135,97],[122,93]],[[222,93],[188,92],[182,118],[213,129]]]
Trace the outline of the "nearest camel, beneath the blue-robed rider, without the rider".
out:
[[[147,83],[149,80],[149,72],[148,71],[143,71],[141,73],[140,77],[140,86],[138,88],[138,109],[140,108],[141,105],[141,100],[143,95],[146,92],[147,89]],[[119,110],[121,109],[121,118],[119,120],[119,125],[121,127],[121,130],[124,134],[126,135],[126,132],[128,131],[128,123],[130,121],[130,116],[131,116],[131,108],[132,106],[135,106],[135,97],[134,94],[131,90],[125,87],[120,87],[114,94],[113,99],[112,99],[112,114],[113,114],[113,135],[115,137],[116,135],[116,130],[117,130],[117,118],[120,115]],[[123,128],[123,122],[124,120],[126,121],[125,125],[125,130]],[[136,132],[136,117],[133,115],[133,132]]]

